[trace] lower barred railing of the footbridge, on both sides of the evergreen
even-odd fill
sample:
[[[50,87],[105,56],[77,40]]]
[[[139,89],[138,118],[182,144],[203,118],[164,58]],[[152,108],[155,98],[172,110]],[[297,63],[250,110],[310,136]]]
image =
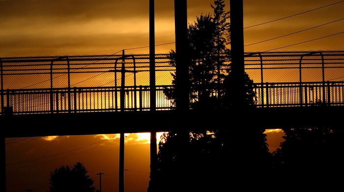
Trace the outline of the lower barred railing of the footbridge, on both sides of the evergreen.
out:
[[[344,82],[256,84],[256,107],[344,105]],[[156,110],[174,109],[164,88],[156,87]],[[121,97],[121,94],[123,96]],[[4,114],[145,111],[150,109],[149,86],[6,90]],[[120,101],[124,99],[124,101]]]

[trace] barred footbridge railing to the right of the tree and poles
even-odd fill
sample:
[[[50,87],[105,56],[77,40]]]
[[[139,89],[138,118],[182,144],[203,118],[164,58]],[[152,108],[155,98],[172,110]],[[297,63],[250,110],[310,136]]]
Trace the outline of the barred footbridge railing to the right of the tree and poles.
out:
[[[344,105],[344,82],[257,84],[257,107]]]

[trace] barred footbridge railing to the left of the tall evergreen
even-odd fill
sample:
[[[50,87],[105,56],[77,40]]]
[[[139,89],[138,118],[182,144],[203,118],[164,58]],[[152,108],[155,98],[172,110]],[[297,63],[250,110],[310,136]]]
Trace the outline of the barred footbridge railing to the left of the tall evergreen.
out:
[[[157,108],[174,108],[173,102],[164,98],[163,90],[156,87]],[[149,86],[102,87],[72,89],[27,89],[4,91],[5,113],[78,113],[104,111],[145,111],[150,109]],[[121,97],[122,95],[122,97]],[[121,102],[121,99],[124,99]]]

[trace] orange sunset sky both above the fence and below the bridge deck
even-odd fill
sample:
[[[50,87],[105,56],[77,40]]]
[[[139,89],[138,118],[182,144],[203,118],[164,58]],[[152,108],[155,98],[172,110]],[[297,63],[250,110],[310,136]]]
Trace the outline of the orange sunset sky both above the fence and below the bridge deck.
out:
[[[148,53],[148,48],[142,48],[149,45],[148,2],[0,0],[0,57],[115,54],[122,49],[126,54]],[[189,23],[201,13],[212,13],[213,0],[187,2]],[[166,44],[157,46],[156,53],[167,53],[174,49],[173,0],[155,0],[155,5],[155,42]],[[244,0],[244,27],[248,27],[244,44],[253,44],[245,46],[245,51],[343,50],[343,10],[344,1],[339,0]],[[278,147],[281,137],[280,131],[268,133],[271,150]],[[125,138],[126,192],[145,192],[148,186],[149,144],[137,139],[135,134]],[[117,192],[118,149],[118,138],[104,140],[96,135],[8,138],[7,192],[46,192],[50,171],[78,161],[89,170],[97,189],[96,173],[102,172],[102,191]]]

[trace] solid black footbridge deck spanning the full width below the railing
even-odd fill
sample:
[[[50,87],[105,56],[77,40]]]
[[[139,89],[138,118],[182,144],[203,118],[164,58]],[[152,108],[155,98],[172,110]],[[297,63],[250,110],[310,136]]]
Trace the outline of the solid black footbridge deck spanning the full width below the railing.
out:
[[[272,129],[338,127],[344,106],[271,107],[179,113],[127,111],[5,115],[0,117],[4,137],[94,135],[163,132],[177,129]]]

